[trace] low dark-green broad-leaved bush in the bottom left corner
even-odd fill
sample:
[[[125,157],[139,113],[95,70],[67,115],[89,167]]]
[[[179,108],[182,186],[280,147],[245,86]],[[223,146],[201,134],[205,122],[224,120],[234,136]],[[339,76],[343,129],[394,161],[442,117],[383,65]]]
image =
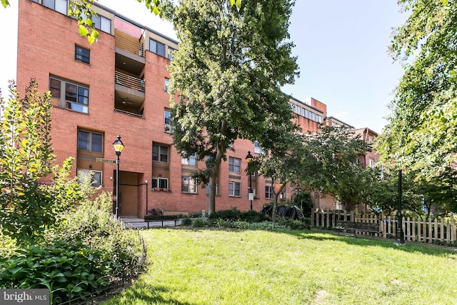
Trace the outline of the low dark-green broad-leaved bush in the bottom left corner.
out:
[[[61,303],[108,286],[112,272],[104,252],[81,241],[28,246],[9,259],[0,259],[0,266],[1,287],[47,288],[52,304],[53,299]]]

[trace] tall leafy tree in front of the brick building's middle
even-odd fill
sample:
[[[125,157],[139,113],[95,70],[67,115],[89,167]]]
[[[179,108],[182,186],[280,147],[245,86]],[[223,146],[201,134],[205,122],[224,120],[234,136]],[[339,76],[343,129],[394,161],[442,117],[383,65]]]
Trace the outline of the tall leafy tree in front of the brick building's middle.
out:
[[[288,96],[296,58],[286,41],[293,1],[182,0],[170,15],[179,50],[169,67],[174,145],[206,161],[199,181],[209,184],[215,211],[216,177],[236,139],[257,140],[268,150],[293,130]],[[174,95],[181,101],[176,104]]]

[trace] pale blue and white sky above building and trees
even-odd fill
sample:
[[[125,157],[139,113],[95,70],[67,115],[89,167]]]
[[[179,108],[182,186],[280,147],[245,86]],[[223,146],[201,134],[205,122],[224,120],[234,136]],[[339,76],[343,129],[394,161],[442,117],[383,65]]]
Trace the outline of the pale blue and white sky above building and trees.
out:
[[[248,1],[248,0],[246,0]],[[406,20],[396,0],[296,0],[290,19],[300,76],[283,92],[327,105],[328,116],[381,133],[403,70],[388,54],[392,29]],[[0,6],[0,88],[16,79],[17,0]],[[176,39],[173,26],[136,0],[99,0],[114,11]],[[126,5],[128,4],[128,5]],[[46,27],[46,25],[44,25]],[[95,46],[94,46],[95,47]]]

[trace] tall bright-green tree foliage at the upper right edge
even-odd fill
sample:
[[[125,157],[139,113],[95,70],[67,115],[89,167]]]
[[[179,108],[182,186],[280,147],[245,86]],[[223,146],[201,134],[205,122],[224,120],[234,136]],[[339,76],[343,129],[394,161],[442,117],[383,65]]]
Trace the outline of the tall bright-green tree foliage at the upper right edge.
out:
[[[405,73],[378,151],[382,159],[421,169],[431,179],[456,167],[457,3],[398,2],[411,15],[396,30],[391,54],[403,61]]]

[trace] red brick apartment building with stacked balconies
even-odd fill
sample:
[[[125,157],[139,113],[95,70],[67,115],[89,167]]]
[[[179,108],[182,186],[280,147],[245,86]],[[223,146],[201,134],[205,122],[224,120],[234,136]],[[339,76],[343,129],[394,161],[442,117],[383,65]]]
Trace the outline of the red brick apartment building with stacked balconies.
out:
[[[100,34],[89,45],[77,21],[67,16],[68,5],[67,0],[19,0],[17,87],[25,88],[33,76],[41,92],[51,91],[57,162],[73,156],[73,175],[93,174],[95,184],[115,193],[116,164],[109,161],[116,159],[112,143],[119,134],[125,149],[114,198],[121,216],[143,217],[152,208],[182,214],[206,210],[206,189],[190,177],[203,164],[181,159],[172,146],[166,66],[178,41],[94,5]],[[328,124],[326,105],[316,99],[291,98],[290,104],[301,132],[311,134]],[[250,206],[245,158],[261,148],[237,140],[233,149],[221,164],[216,210]],[[273,199],[271,179],[251,178],[253,209],[259,211]],[[283,194],[292,195],[293,186]]]

